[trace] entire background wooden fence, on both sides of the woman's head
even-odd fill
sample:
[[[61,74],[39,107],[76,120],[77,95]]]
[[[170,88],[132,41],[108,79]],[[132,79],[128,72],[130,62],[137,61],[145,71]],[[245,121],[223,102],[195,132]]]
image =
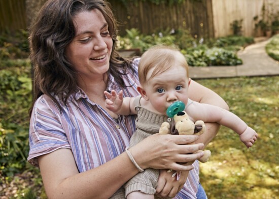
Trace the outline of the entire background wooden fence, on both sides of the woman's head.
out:
[[[32,6],[40,7],[44,1],[35,1],[36,4]],[[193,36],[219,37],[232,34],[230,24],[243,19],[243,35],[252,36],[255,27],[253,18],[259,16],[261,19],[263,5],[268,11],[266,15],[279,12],[278,0],[185,0],[182,4],[172,6],[155,5],[148,1],[139,1],[138,5],[123,5],[119,0],[108,1],[120,22],[120,35],[130,28],[137,28],[145,34],[183,28],[188,29]],[[34,1],[0,0],[0,32],[28,26],[30,19],[34,18],[34,12],[31,12],[34,9],[29,2]]]

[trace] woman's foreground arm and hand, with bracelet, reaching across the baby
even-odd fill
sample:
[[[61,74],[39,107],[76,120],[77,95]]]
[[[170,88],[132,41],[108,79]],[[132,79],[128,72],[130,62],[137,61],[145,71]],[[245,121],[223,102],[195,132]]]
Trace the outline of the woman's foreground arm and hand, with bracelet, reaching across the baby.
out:
[[[203,144],[187,145],[198,136],[152,135],[129,150],[143,169],[173,169],[189,171],[193,166],[177,162],[197,160],[203,153],[193,153]],[[48,197],[109,198],[138,170],[126,152],[97,168],[79,173],[70,149],[58,149],[39,157],[40,170]]]

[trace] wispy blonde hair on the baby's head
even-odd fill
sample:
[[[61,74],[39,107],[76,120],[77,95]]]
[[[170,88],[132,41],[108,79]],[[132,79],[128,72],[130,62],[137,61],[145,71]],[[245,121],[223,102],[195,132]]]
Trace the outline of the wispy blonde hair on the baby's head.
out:
[[[174,64],[180,64],[185,67],[188,75],[188,64],[184,55],[176,48],[158,45],[148,49],[138,64],[138,78],[141,85],[145,85],[148,81],[147,73],[154,68],[150,78],[167,71]],[[175,77],[173,77],[175,78]]]

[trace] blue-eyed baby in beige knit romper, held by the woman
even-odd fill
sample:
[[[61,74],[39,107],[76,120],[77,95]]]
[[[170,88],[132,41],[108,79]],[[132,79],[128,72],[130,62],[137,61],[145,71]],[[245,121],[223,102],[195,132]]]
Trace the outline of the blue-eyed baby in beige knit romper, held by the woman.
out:
[[[202,104],[188,98],[191,79],[188,64],[183,54],[175,48],[155,46],[146,51],[138,64],[140,84],[138,97],[123,98],[122,91],[114,90],[106,95],[106,107],[122,114],[137,114],[136,131],[130,139],[130,146],[146,137],[158,133],[163,122],[169,121],[167,108],[182,101],[192,121],[215,122],[235,131],[248,148],[257,140],[257,133],[237,115],[218,106]],[[154,198],[159,171],[146,169],[125,184],[126,197]],[[144,181],[144,182],[143,182]]]

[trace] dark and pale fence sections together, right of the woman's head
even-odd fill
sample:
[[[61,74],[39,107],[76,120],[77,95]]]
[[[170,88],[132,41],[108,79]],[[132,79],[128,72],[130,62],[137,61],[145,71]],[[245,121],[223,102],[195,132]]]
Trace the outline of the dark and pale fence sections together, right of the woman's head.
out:
[[[137,28],[143,33],[166,28],[184,28],[190,30],[193,36],[220,37],[231,35],[233,32],[230,24],[243,19],[242,35],[254,36],[255,16],[258,16],[259,20],[267,20],[279,12],[279,0],[185,0],[184,3],[171,7],[148,2],[125,7],[119,0],[109,2],[121,22],[121,34],[130,28]]]

